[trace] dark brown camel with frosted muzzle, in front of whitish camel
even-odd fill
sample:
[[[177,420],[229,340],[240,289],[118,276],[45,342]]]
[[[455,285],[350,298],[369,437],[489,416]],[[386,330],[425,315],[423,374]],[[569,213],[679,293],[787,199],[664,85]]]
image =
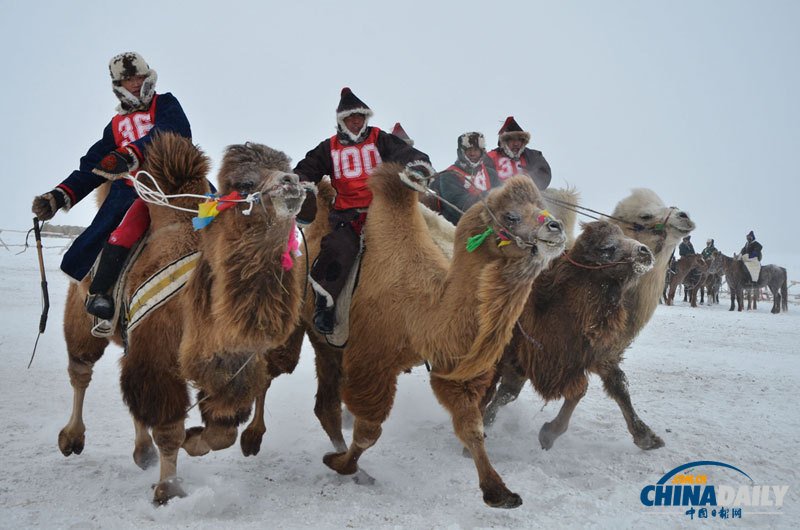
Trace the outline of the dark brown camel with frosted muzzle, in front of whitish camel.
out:
[[[617,225],[584,225],[569,252],[534,280],[518,330],[496,370],[494,384],[502,377],[504,388],[487,406],[484,422],[493,422],[507,402],[503,398],[510,395],[508,389],[513,385],[518,393],[526,379],[545,400],[564,397],[577,405],[590,373],[600,376],[606,393],[625,413],[622,403],[629,403],[630,397],[621,386],[625,374],[616,347],[628,320],[624,297],[654,261],[646,245],[625,236]],[[632,408],[630,415],[633,423],[642,423]],[[562,428],[566,424],[558,419],[542,428],[539,441],[544,449],[552,447]],[[648,436],[639,436],[638,443],[645,448],[658,444],[655,434]]]

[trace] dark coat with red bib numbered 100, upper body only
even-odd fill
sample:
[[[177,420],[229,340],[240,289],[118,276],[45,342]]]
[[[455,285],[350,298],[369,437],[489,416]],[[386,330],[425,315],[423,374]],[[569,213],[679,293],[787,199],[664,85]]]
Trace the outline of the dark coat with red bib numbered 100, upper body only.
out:
[[[341,152],[335,146],[341,146]],[[351,151],[349,156],[345,152],[348,150]],[[337,154],[335,160],[334,153]],[[365,139],[357,144],[353,144],[341,133],[323,140],[306,153],[305,158],[295,166],[294,172],[300,180],[315,184],[325,175],[330,175],[331,184],[336,189],[334,209],[366,208],[372,202],[372,192],[367,188],[366,180],[381,162],[403,165],[420,162],[430,165],[430,159],[425,153],[414,149],[393,134],[377,127],[368,127]],[[353,176],[349,176],[348,172]]]

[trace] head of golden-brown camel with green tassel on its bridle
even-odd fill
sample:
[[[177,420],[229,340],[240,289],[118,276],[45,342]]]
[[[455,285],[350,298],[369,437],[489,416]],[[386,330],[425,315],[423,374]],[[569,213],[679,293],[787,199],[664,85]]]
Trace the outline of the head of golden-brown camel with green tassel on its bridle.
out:
[[[548,215],[539,190],[525,176],[491,190],[486,205],[472,205],[456,227],[456,241],[485,233],[487,228],[492,231],[481,246],[497,257],[532,256],[546,263],[564,250],[567,241],[564,225]]]

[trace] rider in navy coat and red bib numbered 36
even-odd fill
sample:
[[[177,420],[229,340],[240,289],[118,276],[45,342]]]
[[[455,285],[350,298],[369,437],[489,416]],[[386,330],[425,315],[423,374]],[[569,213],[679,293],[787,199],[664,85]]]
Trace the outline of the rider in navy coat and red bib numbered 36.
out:
[[[192,135],[189,120],[175,96],[169,92],[156,94],[158,76],[141,55],[121,53],[111,58],[108,68],[111,89],[120,102],[117,115],[106,125],[103,137],[81,157],[79,168],[53,190],[35,197],[32,206],[36,217],[46,221],[111,181],[108,196],[91,224],[72,243],[61,262],[61,270],[81,281],[102,248],[86,310],[104,319],[114,315],[109,291],[130,248],[150,223],[146,205],[137,199],[132,183],[122,177],[135,174],[141,167],[153,131],[173,131],[187,138]]]

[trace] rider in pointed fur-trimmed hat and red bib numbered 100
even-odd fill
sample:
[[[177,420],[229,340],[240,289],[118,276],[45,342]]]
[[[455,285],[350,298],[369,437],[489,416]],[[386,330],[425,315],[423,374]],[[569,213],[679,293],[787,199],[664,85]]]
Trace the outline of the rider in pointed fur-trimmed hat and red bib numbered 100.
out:
[[[333,332],[334,303],[358,256],[361,229],[372,202],[367,179],[375,166],[381,162],[404,164],[400,178],[407,183],[433,174],[428,155],[397,136],[370,127],[370,116],[372,109],[349,88],[343,88],[336,108],[336,134],[306,153],[294,169],[300,180],[314,183],[330,175],[336,189],[336,201],[328,218],[332,231],[322,238],[319,256],[309,274],[316,296],[314,327],[322,334]],[[297,219],[310,223],[315,215],[316,200],[307,195]]]

